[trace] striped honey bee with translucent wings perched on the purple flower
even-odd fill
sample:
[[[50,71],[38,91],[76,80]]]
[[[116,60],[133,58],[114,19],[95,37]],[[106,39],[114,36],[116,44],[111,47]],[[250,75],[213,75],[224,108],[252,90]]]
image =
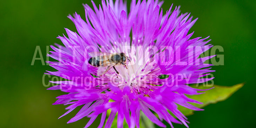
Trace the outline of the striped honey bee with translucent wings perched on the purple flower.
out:
[[[116,70],[116,65],[124,65],[126,67],[126,61],[129,60],[128,56],[124,53],[101,53],[101,52],[92,52],[89,53],[92,58],[89,59],[88,63],[94,67],[107,67],[107,69],[102,73],[97,73],[97,75],[102,76],[106,72],[108,72],[109,69],[112,67],[116,71],[117,74],[119,72]],[[130,61],[130,60],[129,60]],[[126,67],[127,69],[127,67]]]

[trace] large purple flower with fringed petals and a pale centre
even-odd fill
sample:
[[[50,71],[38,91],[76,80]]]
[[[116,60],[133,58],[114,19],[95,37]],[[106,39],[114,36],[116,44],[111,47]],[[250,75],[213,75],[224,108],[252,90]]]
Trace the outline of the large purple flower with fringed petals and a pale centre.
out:
[[[64,34],[58,37],[65,46],[51,46],[54,52],[51,51],[49,56],[59,62],[49,63],[58,71],[47,72],[67,79],[50,81],[59,85],[49,88],[68,93],[58,96],[54,103],[70,105],[62,116],[83,105],[68,123],[87,116],[90,120],[85,127],[89,127],[101,114],[99,127],[106,123],[108,128],[117,114],[118,127],[123,126],[125,119],[128,126],[134,128],[140,126],[142,111],[160,127],[166,127],[163,120],[171,127],[172,122],[188,127],[187,118],[177,105],[202,110],[188,103],[200,102],[184,94],[201,93],[187,84],[212,80],[204,76],[214,72],[207,68],[212,65],[204,63],[214,55],[200,58],[200,54],[212,47],[206,45],[210,40],[204,41],[208,37],[190,39],[194,32],[188,34],[197,19],[192,20],[188,13],[180,14],[180,7],[171,11],[172,6],[163,15],[160,10],[163,2],[158,0],[139,0],[137,3],[132,0],[129,13],[126,3],[119,0],[115,3],[102,0],[99,9],[92,3],[94,10],[84,5],[85,21],[76,13],[74,17],[68,16],[78,33],[65,28],[68,37]],[[100,76],[99,72],[107,67],[89,65],[92,52],[125,53],[129,59],[127,69],[117,65],[119,74],[111,68]],[[169,77],[162,79],[160,76],[163,75]],[[108,109],[111,113],[106,119]]]

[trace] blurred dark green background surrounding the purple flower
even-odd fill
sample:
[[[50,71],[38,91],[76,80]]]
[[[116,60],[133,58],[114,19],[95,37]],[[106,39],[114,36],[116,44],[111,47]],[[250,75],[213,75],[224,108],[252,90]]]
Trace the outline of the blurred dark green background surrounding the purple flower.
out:
[[[46,59],[46,46],[61,44],[56,36],[65,28],[76,31],[68,14],[78,12],[85,18],[82,3],[89,0],[5,0],[0,7],[1,86],[0,127],[84,127],[87,118],[67,124],[75,115],[66,112],[63,105],[52,105],[59,90],[46,90],[42,85],[45,70],[36,60],[31,61],[36,46],[40,46]],[[95,0],[96,5],[100,1]],[[128,1],[129,3],[129,1]],[[188,116],[191,128],[255,127],[255,0],[171,0],[165,1],[163,10],[171,3],[181,5],[181,11],[191,12],[199,19],[192,27],[193,37],[210,35],[213,45],[224,48],[224,66],[213,67],[216,85],[232,86],[246,82],[228,100],[204,107],[204,111]],[[164,12],[165,12],[164,11]],[[66,33],[65,33],[66,34]],[[39,56],[37,56],[39,57]],[[99,119],[91,127],[96,127]],[[185,128],[175,124],[176,128]]]

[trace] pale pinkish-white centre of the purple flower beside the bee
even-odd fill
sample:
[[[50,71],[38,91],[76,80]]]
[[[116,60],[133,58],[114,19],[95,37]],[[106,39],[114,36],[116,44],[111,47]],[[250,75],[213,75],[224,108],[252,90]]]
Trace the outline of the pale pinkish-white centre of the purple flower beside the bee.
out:
[[[127,42],[126,44],[127,46],[113,48],[111,51],[113,53],[123,52],[128,56],[130,61],[126,61],[127,69],[123,65],[116,65],[115,68],[119,74],[116,74],[112,68],[105,75],[109,77],[113,85],[120,88],[129,86],[139,92],[141,87],[147,88],[148,84],[154,84],[149,76],[158,77],[160,68],[157,65],[157,60],[150,58],[149,47],[130,46]]]

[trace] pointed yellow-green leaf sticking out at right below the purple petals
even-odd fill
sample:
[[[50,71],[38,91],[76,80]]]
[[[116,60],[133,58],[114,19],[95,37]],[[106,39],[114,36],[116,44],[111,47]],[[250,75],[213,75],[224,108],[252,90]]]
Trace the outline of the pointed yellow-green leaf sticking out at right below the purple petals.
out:
[[[198,89],[209,89],[214,87],[213,89],[207,90],[207,91],[199,91],[199,92],[205,92],[204,94],[200,95],[187,95],[189,98],[197,100],[202,102],[203,104],[196,104],[196,103],[191,103],[191,105],[194,105],[195,107],[198,108],[203,108],[204,106],[207,106],[211,103],[217,103],[220,101],[224,101],[228,99],[232,94],[234,94],[238,89],[242,88],[244,83],[240,83],[234,86],[218,86],[218,85],[213,85],[213,86],[208,86],[207,85],[192,85],[191,87],[193,88],[198,88]],[[178,105],[178,109],[183,113],[185,116],[188,115],[193,115],[194,110],[185,108],[183,106]]]

